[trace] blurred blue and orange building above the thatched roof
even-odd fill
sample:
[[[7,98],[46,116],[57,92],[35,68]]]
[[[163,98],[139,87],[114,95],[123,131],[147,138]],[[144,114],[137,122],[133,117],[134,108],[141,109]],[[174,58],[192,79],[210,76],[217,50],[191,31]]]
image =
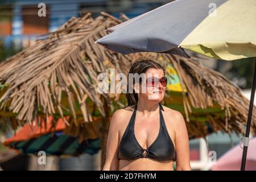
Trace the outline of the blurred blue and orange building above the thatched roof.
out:
[[[93,17],[106,11],[116,17],[125,13],[129,18],[170,2],[166,0],[6,0],[0,2],[0,39],[14,41],[22,47],[31,46],[39,35],[55,31],[72,16],[91,12]],[[42,15],[45,7],[46,16]],[[40,14],[40,16],[39,16]]]

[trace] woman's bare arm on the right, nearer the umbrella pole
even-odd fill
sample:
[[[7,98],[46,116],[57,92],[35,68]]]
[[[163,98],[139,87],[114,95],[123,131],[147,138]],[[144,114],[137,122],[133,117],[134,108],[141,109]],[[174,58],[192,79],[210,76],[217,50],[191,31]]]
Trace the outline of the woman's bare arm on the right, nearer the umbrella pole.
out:
[[[175,121],[176,170],[190,171],[188,131],[180,112],[177,112]]]

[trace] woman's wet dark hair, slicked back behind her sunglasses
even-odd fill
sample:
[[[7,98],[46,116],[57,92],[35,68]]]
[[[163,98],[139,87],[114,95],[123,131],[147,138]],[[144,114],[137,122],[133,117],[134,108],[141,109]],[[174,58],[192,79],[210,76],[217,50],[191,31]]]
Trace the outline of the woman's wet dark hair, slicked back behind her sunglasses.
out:
[[[150,59],[139,59],[134,61],[133,65],[131,65],[129,73],[138,73],[139,75],[141,73],[146,73],[146,71],[150,68],[155,69],[162,69],[165,75],[164,68],[159,63],[156,63],[153,60]],[[129,75],[128,77],[129,78]],[[135,79],[133,79],[133,84],[135,83]],[[129,87],[132,85],[129,85],[129,81],[127,81],[127,92],[126,92],[126,98],[127,98],[127,106],[135,106],[138,104],[138,93],[135,93],[135,90],[133,89],[133,93],[129,93]]]

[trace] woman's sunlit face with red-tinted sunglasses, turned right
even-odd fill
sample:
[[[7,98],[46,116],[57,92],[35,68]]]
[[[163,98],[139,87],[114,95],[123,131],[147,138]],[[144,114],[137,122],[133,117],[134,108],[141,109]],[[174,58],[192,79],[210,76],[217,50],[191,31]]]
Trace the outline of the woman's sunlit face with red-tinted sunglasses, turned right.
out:
[[[164,92],[166,91],[166,86],[163,86],[159,81],[160,78],[164,77],[163,70],[150,68],[145,74],[146,82],[142,82],[139,85],[140,100],[161,102],[164,98]]]

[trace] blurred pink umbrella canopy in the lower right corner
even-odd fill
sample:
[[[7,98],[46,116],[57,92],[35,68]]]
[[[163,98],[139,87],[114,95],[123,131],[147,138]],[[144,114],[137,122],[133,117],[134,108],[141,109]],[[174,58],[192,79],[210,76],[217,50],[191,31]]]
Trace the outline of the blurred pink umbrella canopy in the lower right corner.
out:
[[[256,138],[250,139],[250,146],[247,152],[246,170],[256,170]],[[221,156],[220,159],[210,168],[212,171],[238,171],[241,167],[241,156],[243,149],[240,144]]]

